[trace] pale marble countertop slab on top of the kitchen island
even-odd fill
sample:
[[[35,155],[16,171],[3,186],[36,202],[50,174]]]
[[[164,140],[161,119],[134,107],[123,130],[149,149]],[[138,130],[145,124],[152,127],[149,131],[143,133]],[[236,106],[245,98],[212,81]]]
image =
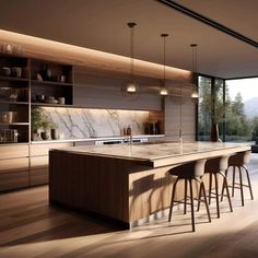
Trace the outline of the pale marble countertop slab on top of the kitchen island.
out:
[[[86,155],[116,157],[149,162],[152,167],[230,155],[250,150],[249,143],[224,142],[163,142],[146,144],[87,145],[61,149],[60,151]]]

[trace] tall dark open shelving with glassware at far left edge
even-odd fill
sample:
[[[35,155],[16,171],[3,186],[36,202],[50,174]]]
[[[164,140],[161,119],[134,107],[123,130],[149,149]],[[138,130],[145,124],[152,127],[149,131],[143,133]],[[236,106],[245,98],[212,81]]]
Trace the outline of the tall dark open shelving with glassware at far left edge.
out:
[[[28,141],[28,75],[26,58],[0,57],[0,143]]]

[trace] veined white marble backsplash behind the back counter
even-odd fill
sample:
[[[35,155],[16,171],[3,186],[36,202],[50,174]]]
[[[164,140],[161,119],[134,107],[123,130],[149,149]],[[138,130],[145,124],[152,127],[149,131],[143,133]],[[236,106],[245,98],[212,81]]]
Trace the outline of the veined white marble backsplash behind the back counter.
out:
[[[130,126],[132,134],[143,134],[149,112],[92,108],[43,107],[62,139],[122,136]]]

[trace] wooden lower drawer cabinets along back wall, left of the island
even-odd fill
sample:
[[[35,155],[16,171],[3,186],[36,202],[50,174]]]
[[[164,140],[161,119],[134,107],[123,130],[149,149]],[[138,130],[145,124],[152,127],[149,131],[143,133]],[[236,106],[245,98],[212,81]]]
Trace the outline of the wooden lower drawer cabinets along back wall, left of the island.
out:
[[[49,150],[72,145],[72,142],[0,145],[0,192],[48,184]]]

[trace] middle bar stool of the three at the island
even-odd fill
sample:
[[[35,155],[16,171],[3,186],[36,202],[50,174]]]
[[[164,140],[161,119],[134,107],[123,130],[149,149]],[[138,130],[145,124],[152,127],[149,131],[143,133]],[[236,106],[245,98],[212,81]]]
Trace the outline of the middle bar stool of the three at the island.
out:
[[[204,173],[209,174],[209,204],[211,203],[211,198],[215,198],[216,201],[216,216],[220,218],[220,203],[219,203],[219,197],[221,196],[219,194],[219,183],[218,183],[218,176],[222,176],[223,178],[223,188],[226,189],[226,196],[228,200],[228,206],[231,212],[233,212],[232,209],[232,202],[231,202],[231,195],[227,186],[227,180],[225,176],[225,171],[228,166],[228,156],[218,156],[213,159],[209,159],[206,162],[204,166]],[[215,180],[215,191],[212,191],[212,178],[214,177]],[[223,195],[223,194],[222,194]],[[198,203],[198,210],[199,210],[199,203]]]

